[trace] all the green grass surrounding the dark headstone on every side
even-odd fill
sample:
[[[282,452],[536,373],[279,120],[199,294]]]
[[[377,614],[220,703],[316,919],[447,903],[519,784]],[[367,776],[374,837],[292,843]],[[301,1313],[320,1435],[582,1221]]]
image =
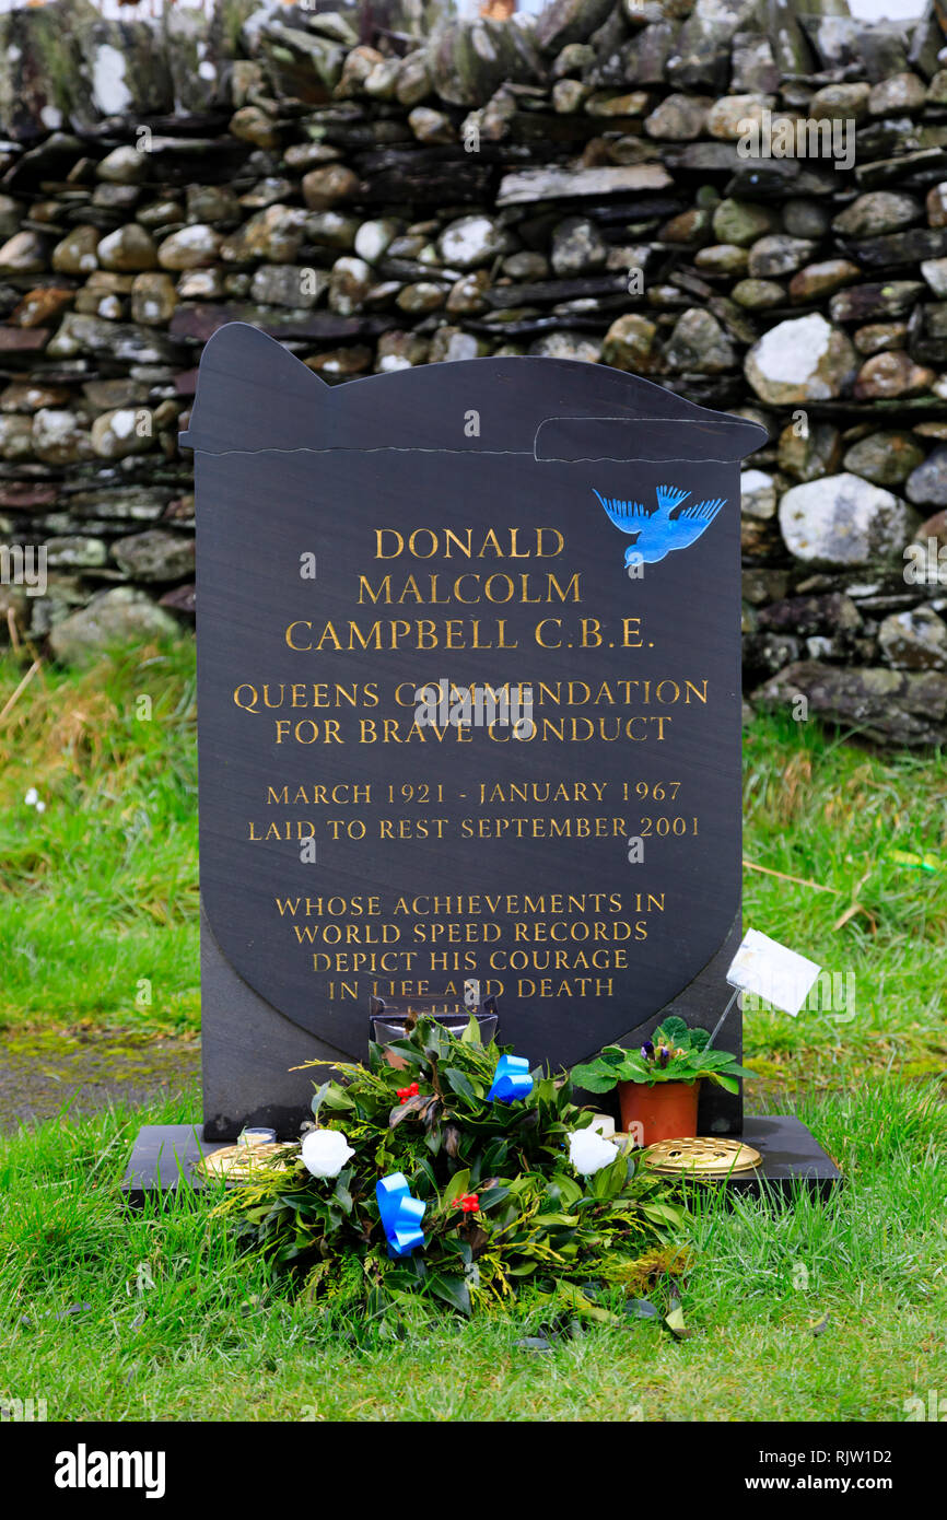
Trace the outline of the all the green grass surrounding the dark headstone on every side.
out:
[[[0,711],[23,673],[0,661]],[[196,1031],[193,725],[188,644],[44,667],[0,719],[0,1026]],[[634,1321],[531,1351],[529,1312],[436,1316],[403,1342],[331,1332],[204,1204],[123,1210],[135,1128],[195,1119],[188,1093],[2,1145],[0,1403],[46,1398],[50,1420],[848,1421],[947,1394],[947,766],[777,719],[745,755],[745,923],[847,986],[841,1009],[746,1017],[751,1107],[800,1113],[848,1186],[783,1210],[695,1199],[689,1339]]]

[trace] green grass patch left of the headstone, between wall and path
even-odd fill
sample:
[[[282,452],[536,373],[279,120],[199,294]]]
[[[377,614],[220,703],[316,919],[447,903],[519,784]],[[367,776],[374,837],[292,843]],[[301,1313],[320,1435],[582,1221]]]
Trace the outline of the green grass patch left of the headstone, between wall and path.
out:
[[[43,667],[0,722],[0,1024],[198,1028],[193,663]],[[0,708],[21,675],[8,654]]]

